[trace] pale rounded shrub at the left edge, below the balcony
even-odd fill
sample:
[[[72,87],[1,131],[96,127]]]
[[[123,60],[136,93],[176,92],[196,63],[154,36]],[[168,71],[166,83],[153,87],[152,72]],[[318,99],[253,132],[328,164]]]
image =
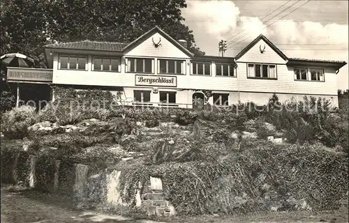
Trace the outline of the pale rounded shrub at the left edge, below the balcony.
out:
[[[28,134],[28,127],[34,124],[35,108],[15,107],[1,116],[1,132],[9,139],[22,139]]]

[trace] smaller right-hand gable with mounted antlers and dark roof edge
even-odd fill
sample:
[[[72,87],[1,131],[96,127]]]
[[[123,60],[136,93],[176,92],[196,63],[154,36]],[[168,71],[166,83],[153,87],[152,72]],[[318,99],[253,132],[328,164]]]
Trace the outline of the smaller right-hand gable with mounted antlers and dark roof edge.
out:
[[[287,56],[265,36],[260,35],[236,56],[237,62],[287,63]]]

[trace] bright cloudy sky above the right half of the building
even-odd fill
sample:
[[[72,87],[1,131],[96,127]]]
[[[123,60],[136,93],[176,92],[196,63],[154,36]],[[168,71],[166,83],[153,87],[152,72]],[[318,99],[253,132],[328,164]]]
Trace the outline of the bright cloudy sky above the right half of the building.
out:
[[[184,24],[207,55],[218,56],[218,42],[227,40],[225,56],[235,56],[262,33],[288,57],[349,61],[348,1],[186,3],[187,8],[181,10]],[[338,75],[339,89],[349,89],[348,64]]]

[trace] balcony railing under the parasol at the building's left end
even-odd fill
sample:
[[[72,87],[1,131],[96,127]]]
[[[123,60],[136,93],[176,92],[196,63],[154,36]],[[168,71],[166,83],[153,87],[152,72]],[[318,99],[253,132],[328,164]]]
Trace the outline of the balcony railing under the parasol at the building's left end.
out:
[[[7,68],[8,81],[52,82],[52,69]]]

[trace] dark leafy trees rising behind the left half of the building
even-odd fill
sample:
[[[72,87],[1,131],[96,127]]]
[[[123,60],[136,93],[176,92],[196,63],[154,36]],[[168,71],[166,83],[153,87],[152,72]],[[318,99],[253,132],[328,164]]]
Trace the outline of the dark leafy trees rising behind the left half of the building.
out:
[[[193,31],[182,24],[185,0],[3,0],[1,54],[22,52],[45,66],[43,45],[54,41],[105,40],[130,43],[158,25],[184,39],[194,54]]]

